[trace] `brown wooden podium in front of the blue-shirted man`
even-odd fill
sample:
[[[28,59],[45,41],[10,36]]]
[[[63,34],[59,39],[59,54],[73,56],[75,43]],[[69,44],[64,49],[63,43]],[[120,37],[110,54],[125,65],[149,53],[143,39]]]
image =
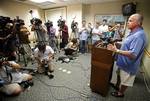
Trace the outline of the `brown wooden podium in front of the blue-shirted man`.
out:
[[[90,87],[93,92],[106,96],[113,67],[113,52],[92,47]]]

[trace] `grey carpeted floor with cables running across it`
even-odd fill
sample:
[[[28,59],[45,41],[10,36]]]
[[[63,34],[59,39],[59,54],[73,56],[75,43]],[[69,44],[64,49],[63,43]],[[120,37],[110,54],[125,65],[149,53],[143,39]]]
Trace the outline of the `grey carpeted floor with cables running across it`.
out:
[[[114,91],[110,87],[106,97],[91,92],[89,87],[91,55],[79,54],[69,63],[61,63],[56,59],[62,53],[56,55],[52,62],[54,78],[36,74],[34,86],[29,91],[21,93],[17,97],[0,97],[0,101],[150,101],[144,84],[142,74],[138,74],[134,86],[127,89],[124,98],[115,98],[110,95]],[[36,68],[36,64],[28,64],[26,68]]]

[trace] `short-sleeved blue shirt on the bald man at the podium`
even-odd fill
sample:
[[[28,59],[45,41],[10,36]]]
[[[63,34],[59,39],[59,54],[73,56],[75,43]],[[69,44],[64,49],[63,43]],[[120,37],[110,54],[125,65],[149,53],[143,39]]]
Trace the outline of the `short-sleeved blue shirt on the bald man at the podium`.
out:
[[[130,59],[127,56],[118,55],[118,67],[131,75],[135,75],[140,66],[145,45],[146,35],[144,30],[137,28],[132,31],[124,40],[120,50],[130,51],[136,58]]]

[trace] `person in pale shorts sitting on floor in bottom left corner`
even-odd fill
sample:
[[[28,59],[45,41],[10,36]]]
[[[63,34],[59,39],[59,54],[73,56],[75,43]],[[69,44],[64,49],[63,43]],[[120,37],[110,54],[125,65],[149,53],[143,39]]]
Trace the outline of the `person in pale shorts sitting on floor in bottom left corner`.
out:
[[[33,85],[32,76],[19,72],[20,68],[15,61],[0,61],[1,93],[15,96]]]

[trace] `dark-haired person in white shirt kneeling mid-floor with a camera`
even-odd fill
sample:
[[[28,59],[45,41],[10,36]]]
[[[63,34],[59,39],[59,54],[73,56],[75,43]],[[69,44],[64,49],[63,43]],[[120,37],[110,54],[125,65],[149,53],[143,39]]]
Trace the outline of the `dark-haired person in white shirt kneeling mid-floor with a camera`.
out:
[[[46,73],[49,78],[53,78],[51,72],[53,72],[51,61],[54,56],[54,50],[43,42],[38,43],[37,48],[34,51],[35,60],[38,63],[38,73]]]

